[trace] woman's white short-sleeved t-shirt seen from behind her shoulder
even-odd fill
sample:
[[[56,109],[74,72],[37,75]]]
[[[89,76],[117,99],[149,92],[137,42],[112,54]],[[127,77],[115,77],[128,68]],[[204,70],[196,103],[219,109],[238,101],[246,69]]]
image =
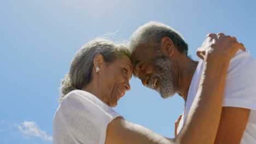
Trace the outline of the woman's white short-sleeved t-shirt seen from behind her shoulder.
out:
[[[105,143],[107,125],[118,116],[91,93],[69,92],[54,116],[53,143]]]

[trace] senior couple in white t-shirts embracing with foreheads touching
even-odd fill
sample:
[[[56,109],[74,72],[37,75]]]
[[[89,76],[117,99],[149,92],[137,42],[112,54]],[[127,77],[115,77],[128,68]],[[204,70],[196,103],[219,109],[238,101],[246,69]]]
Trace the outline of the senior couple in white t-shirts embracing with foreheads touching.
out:
[[[128,47],[85,44],[61,83],[53,143],[256,143],[256,60],[223,33],[207,35],[200,61],[187,54],[182,36],[159,22],[139,27]],[[132,73],[162,98],[185,100],[173,139],[112,109],[130,90]]]

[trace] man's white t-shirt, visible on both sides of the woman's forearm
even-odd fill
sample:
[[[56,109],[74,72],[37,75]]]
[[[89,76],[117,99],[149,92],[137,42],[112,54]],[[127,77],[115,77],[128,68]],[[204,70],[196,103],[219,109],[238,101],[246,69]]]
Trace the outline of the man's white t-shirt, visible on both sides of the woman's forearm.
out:
[[[195,98],[197,88],[201,79],[203,62],[197,65],[195,74],[191,81],[186,106],[181,122],[179,122],[177,133],[183,127],[184,119],[187,117],[191,104]],[[223,106],[242,107],[250,109],[248,122],[243,133],[241,144],[256,143],[256,59],[248,52],[239,50],[231,59],[223,97]],[[218,79],[218,77],[216,77]],[[235,129],[234,129],[235,130]]]

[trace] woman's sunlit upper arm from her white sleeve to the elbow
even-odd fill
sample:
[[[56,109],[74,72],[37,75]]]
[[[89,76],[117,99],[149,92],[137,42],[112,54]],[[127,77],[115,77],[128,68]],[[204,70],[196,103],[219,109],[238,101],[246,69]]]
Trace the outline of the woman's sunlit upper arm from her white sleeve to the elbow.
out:
[[[154,133],[141,125],[115,118],[108,124],[106,144],[155,144],[173,143],[173,140]]]

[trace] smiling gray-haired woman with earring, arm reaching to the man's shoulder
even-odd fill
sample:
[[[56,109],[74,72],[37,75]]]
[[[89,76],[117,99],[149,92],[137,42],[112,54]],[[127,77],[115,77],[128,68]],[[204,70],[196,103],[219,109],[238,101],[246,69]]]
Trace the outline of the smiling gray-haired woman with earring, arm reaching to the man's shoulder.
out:
[[[244,47],[234,39],[211,35],[202,47],[204,49],[198,50],[197,55],[205,60],[205,77],[201,79],[197,99],[181,133],[175,139],[168,139],[127,122],[111,108],[130,90],[132,65],[129,51],[122,45],[102,39],[85,44],[74,56],[69,74],[62,80],[60,106],[53,122],[53,142],[213,143],[229,60],[239,47]],[[222,63],[216,63],[216,57]],[[216,76],[222,79],[214,79]],[[214,118],[208,118],[209,115]]]

